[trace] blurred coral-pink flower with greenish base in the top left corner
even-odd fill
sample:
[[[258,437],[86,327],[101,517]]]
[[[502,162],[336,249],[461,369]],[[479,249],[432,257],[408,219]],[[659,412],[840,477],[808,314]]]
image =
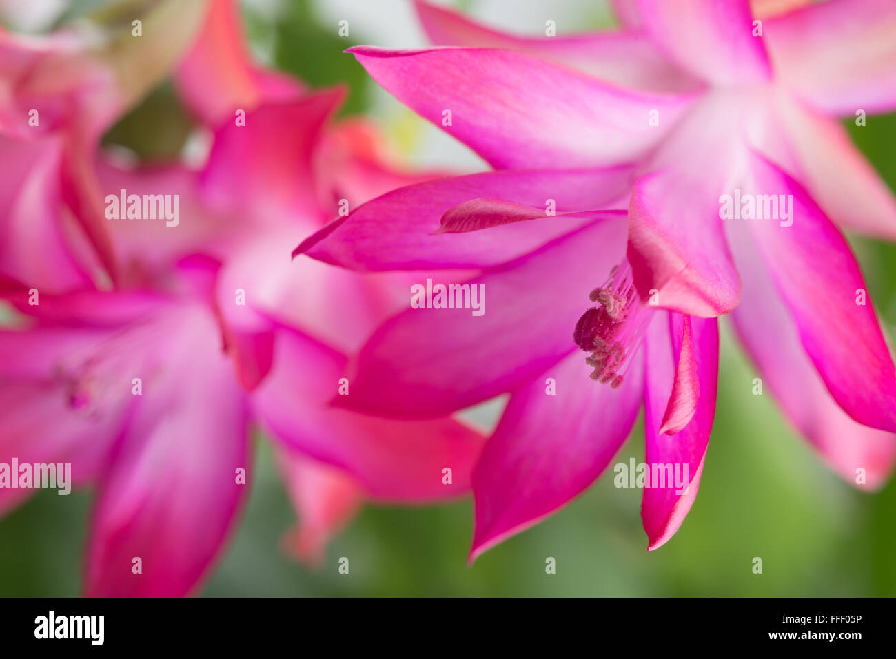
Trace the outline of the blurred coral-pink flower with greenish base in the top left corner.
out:
[[[0,29],[2,273],[61,292],[116,278],[91,167],[102,134],[183,56],[202,5],[164,0],[131,25],[22,37]],[[72,227],[74,224],[77,227]]]

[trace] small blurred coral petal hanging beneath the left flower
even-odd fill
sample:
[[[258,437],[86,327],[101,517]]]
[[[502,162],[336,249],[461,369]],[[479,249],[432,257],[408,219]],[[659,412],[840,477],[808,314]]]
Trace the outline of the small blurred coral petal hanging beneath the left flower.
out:
[[[327,543],[355,517],[363,492],[345,472],[300,453],[278,451],[280,473],[296,509],[298,524],[284,541],[306,565],[320,566]]]

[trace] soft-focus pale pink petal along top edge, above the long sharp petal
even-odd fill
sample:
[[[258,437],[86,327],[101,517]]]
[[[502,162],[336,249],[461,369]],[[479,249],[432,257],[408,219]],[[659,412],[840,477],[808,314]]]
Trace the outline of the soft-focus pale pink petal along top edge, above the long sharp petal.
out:
[[[639,90],[684,91],[698,87],[697,81],[669,63],[650,39],[637,32],[516,37],[478,25],[460,13],[423,0],[415,0],[414,4],[426,36],[434,46],[518,50]]]

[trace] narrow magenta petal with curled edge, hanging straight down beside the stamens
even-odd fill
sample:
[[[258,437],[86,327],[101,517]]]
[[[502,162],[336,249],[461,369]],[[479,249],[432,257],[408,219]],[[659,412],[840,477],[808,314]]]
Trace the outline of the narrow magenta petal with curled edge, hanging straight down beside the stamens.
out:
[[[700,486],[703,460],[710,441],[712,420],[716,413],[716,383],[719,375],[719,329],[715,319],[692,318],[694,361],[699,378],[700,399],[694,415],[676,434],[661,432],[663,411],[670,395],[674,395],[676,377],[676,345],[683,343],[685,318],[667,314],[664,321],[653,321],[645,338],[644,383],[645,462],[650,466],[671,466],[673,483],[668,480],[668,467],[663,480],[648,483],[644,488],[641,517],[647,532],[648,549],[658,549],[675,535],[694,504]],[[686,473],[685,473],[686,470]],[[658,472],[659,473],[659,472]],[[675,476],[679,482],[674,482]],[[686,477],[685,477],[686,476]],[[686,483],[686,485],[685,485]],[[684,485],[684,486],[681,486]]]

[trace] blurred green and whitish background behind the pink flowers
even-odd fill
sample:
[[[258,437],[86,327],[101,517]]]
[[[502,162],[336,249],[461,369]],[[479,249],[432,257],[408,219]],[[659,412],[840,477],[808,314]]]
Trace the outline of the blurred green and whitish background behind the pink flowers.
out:
[[[83,3],[80,9],[75,4],[69,16],[89,4],[99,3]],[[538,33],[544,20],[543,12],[534,9],[537,4],[504,3],[504,13],[513,17],[504,27]],[[487,0],[461,5],[495,24],[502,11],[500,3]],[[566,21],[558,20],[558,29],[586,30],[611,21],[603,4],[582,5],[557,3]],[[259,0],[244,9],[257,55],[314,86],[348,83],[351,96],[344,112],[380,118],[409,158],[425,162],[435,151],[436,159],[444,157],[455,167],[477,166],[477,159],[457,145],[427,133],[435,129],[378,90],[354,58],[341,55],[358,43],[423,45],[409,12],[399,21],[388,8],[380,8],[383,27],[354,16],[348,0]],[[349,39],[337,36],[340,12],[349,18]],[[402,33],[407,39],[395,41]],[[851,121],[845,125],[896,187],[896,115],[871,116],[865,127]],[[189,128],[170,87],[163,86],[125,117],[107,141],[144,158],[166,158],[183,146]],[[159,139],[161,134],[165,139]],[[896,248],[869,240],[853,244],[884,324],[896,336]],[[265,441],[256,441],[248,505],[201,593],[896,595],[896,483],[866,494],[831,475],[788,428],[771,397],[752,395],[755,375],[726,331],[718,412],[700,493],[677,535],[657,552],[646,552],[642,492],[617,490],[605,477],[579,500],[487,552],[472,567],[466,565],[472,526],[468,499],[425,509],[368,505],[332,542],[322,568],[308,570],[281,550],[281,535],[294,524],[294,513],[274,471],[271,450]],[[635,432],[617,461],[640,460],[642,455],[642,436]],[[77,595],[89,506],[90,492],[64,501],[47,491],[0,520],[0,595]],[[337,571],[341,556],[349,557],[349,575]],[[556,574],[546,574],[547,557],[556,559]],[[761,575],[753,573],[754,557],[762,558]]]

